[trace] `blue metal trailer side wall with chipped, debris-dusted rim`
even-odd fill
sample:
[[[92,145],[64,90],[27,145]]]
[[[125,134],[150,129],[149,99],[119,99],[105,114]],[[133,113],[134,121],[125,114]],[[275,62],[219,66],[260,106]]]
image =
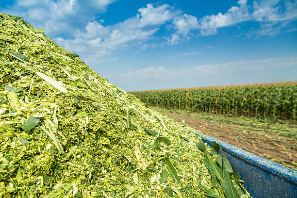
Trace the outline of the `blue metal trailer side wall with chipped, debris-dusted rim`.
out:
[[[253,198],[297,198],[297,171],[198,132],[202,141],[221,144],[224,155]]]

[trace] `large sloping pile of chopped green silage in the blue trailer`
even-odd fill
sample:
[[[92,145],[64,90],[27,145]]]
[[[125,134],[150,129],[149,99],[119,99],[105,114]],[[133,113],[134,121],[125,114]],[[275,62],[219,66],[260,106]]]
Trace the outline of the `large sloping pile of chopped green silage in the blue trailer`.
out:
[[[0,14],[0,198],[250,197],[214,148]]]

